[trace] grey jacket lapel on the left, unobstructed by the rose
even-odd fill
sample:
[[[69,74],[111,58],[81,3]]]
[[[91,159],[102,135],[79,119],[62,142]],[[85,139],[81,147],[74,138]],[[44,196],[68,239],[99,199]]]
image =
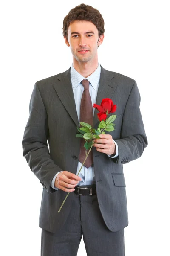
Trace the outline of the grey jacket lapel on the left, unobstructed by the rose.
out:
[[[57,76],[58,83],[54,84],[54,89],[59,96],[66,111],[69,113],[74,123],[79,127],[76,103],[74,100],[73,88],[71,85],[70,68]]]

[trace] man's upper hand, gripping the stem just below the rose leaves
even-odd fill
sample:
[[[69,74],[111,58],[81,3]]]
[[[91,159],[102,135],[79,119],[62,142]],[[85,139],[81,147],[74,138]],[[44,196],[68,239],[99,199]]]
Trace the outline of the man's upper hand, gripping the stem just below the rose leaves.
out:
[[[94,140],[94,147],[96,147],[96,150],[108,155],[116,154],[116,146],[112,136],[110,134],[100,134],[99,137],[101,139]]]

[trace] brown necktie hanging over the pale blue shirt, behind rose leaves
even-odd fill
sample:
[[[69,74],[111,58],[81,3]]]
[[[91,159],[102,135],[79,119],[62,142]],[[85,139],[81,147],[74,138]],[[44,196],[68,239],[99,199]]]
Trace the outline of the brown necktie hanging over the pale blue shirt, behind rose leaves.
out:
[[[82,99],[80,104],[80,122],[88,123],[93,127],[93,106],[91,102],[91,96],[89,93],[89,81],[87,79],[82,80],[82,85],[84,87],[84,91],[82,93]],[[82,127],[82,125],[80,125]],[[80,154],[79,154],[79,162],[83,163],[86,157],[85,154],[85,139],[81,138],[81,145],[80,145]],[[88,153],[88,151],[87,151]],[[84,165],[89,168],[93,164],[93,152],[92,149],[88,158],[85,160]]]

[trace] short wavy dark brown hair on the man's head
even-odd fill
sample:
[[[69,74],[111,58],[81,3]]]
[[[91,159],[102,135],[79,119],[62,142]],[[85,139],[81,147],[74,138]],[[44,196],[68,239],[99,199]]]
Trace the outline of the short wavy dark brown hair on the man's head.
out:
[[[67,16],[65,16],[63,20],[63,36],[66,38],[68,36],[68,27],[70,26],[70,23],[74,22],[74,20],[87,20],[94,23],[99,31],[99,36],[103,35],[105,32],[105,23],[101,13],[92,6],[82,3],[79,6],[71,9],[71,11]]]

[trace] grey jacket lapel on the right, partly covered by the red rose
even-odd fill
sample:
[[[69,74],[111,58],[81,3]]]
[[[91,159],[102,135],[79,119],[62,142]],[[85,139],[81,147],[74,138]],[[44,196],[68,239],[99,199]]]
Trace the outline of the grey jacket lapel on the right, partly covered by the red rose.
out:
[[[101,66],[101,73],[100,73],[100,81],[99,81],[99,89],[96,98],[96,104],[100,105],[102,99],[105,98],[112,98],[114,91],[116,90],[117,83],[114,81],[114,73],[108,70],[105,70]],[[114,103],[114,102],[113,102]],[[98,121],[97,113],[99,111],[95,108],[94,111],[94,127]]]

